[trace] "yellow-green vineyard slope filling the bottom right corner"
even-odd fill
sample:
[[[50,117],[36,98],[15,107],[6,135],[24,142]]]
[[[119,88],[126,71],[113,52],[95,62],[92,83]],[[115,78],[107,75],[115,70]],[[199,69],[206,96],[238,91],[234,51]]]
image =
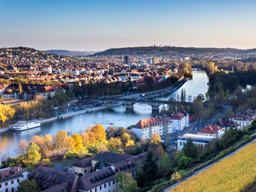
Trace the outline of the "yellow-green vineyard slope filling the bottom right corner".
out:
[[[171,191],[243,191],[256,178],[256,143],[249,144]]]

